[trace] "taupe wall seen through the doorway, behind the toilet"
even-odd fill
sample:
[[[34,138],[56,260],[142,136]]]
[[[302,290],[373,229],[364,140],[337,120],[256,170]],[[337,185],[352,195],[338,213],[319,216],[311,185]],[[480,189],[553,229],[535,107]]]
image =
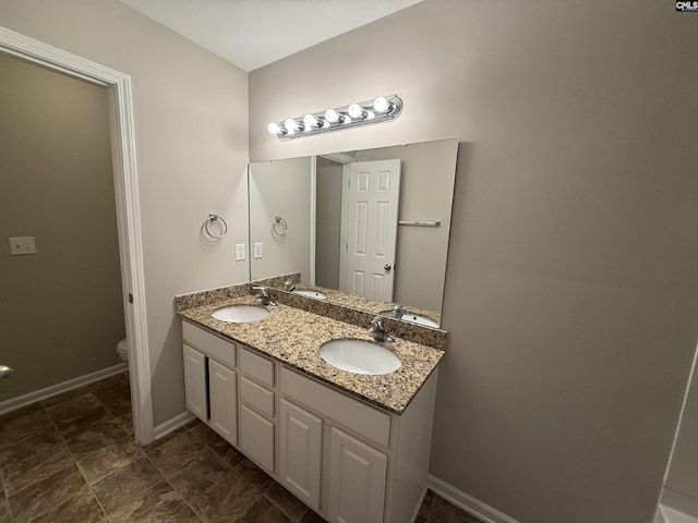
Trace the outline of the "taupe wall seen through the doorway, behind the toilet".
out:
[[[125,335],[107,90],[5,54],[0,78],[2,401],[117,365]]]

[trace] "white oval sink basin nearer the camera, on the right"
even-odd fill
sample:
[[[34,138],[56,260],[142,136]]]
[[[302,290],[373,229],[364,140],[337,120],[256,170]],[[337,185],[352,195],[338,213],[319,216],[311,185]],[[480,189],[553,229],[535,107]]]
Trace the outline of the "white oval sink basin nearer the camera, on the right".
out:
[[[400,358],[384,346],[363,340],[333,340],[320,348],[320,357],[354,374],[388,374],[400,368]]]

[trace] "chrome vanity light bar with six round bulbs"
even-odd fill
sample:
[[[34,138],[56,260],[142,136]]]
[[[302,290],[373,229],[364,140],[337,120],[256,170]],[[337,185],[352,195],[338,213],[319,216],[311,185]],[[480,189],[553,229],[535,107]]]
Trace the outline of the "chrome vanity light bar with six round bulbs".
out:
[[[361,104],[330,108],[322,112],[308,113],[304,117],[287,118],[281,123],[272,122],[267,125],[267,130],[279,139],[291,139],[325,131],[387,122],[395,120],[401,111],[402,100],[399,96],[380,96]]]

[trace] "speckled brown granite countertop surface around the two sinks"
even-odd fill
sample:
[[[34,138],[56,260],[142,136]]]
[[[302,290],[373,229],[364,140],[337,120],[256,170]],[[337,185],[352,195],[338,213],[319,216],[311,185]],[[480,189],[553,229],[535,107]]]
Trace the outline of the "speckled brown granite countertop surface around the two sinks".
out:
[[[266,307],[270,314],[260,321],[233,324],[212,316],[217,308],[242,304],[258,305],[258,302],[251,296],[236,297],[180,311],[179,314],[194,325],[395,414],[407,409],[444,355],[444,351],[438,349],[396,338],[394,342],[382,345],[400,358],[400,368],[375,376],[348,373],[320,357],[320,346],[340,338],[374,341],[368,329],[282,304]]]

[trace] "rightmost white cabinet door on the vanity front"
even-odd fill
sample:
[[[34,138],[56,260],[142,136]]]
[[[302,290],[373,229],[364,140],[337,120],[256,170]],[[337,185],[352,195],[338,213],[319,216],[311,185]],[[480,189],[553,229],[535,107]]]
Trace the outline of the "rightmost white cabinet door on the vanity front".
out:
[[[383,522],[387,457],[335,427],[329,452],[329,521]]]

